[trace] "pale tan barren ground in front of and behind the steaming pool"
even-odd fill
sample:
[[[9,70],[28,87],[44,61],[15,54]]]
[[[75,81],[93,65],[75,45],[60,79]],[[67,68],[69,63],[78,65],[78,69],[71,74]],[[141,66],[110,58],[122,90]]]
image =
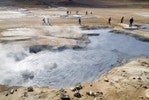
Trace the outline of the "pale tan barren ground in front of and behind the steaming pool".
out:
[[[46,34],[54,30],[48,25],[42,24],[43,17],[49,17],[52,26],[75,26],[78,25],[78,19],[73,15],[70,18],[64,18],[66,11],[71,11],[84,17],[82,19],[83,26],[109,26],[114,27],[118,31],[128,31],[128,33],[136,34],[139,37],[149,38],[149,30],[135,29],[126,30],[124,24],[119,24],[122,16],[125,17],[124,23],[128,24],[129,19],[134,17],[135,24],[149,24],[149,9],[131,9],[131,8],[25,8],[24,13],[6,12],[0,15],[0,42],[8,43],[12,41],[27,41],[35,45],[52,45],[52,46],[76,46],[77,41],[88,43],[88,39],[82,34],[72,32],[72,34]],[[9,9],[10,11],[14,11]],[[4,11],[0,9],[0,12]],[[6,9],[5,9],[6,11]],[[23,10],[22,10],[23,11]],[[85,12],[93,12],[85,16]],[[13,15],[13,14],[14,15]],[[7,15],[7,18],[6,18]],[[112,24],[107,24],[107,19],[112,17]],[[18,30],[27,31],[29,35],[17,35]],[[14,30],[13,30],[14,29]],[[49,29],[51,29],[49,31]],[[54,30],[54,31],[62,31]],[[14,36],[9,36],[9,31],[14,32]],[[8,32],[8,33],[7,33]],[[78,31],[77,31],[78,32]],[[30,35],[30,33],[34,33]],[[30,39],[38,34],[35,39]],[[50,36],[49,36],[50,35]],[[37,42],[38,41],[38,42]],[[149,100],[149,59],[145,57],[136,58],[122,66],[116,67],[108,73],[101,76],[98,80],[86,84],[82,84],[83,89],[80,90],[82,97],[79,100]],[[12,89],[17,89],[10,94]],[[33,92],[27,92],[27,87],[0,86],[0,100],[60,100],[62,90],[51,89],[49,87],[33,87]],[[72,100],[78,100],[74,97],[74,92],[70,88],[65,89],[64,94],[68,94]],[[86,92],[90,92],[87,95]],[[92,96],[97,93],[98,95]],[[8,93],[8,96],[6,94]]]

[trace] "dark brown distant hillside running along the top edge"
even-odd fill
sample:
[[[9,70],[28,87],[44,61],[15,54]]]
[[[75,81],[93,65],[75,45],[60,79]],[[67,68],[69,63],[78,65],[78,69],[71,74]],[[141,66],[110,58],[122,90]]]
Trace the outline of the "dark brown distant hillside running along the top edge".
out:
[[[60,6],[94,6],[94,7],[114,7],[114,6],[141,6],[149,8],[149,0],[0,0],[0,5],[12,5],[14,2],[38,5],[60,5]]]

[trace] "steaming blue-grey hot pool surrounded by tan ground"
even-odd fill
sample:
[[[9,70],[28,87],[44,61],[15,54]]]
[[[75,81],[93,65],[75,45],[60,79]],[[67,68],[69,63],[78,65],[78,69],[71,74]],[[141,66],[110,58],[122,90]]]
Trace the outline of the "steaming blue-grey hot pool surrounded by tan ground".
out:
[[[97,79],[118,61],[149,56],[149,43],[110,33],[109,29],[87,30],[100,33],[81,50],[44,50],[29,53],[23,44],[0,44],[0,83],[67,87]]]

